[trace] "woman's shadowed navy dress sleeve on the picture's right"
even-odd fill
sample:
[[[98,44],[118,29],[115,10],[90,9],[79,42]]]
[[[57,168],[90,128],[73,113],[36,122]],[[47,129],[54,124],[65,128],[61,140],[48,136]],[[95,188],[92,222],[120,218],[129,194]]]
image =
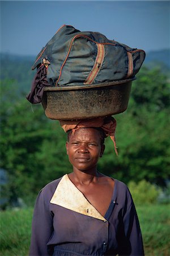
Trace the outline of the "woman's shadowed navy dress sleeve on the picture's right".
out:
[[[124,241],[121,244],[121,253],[119,255],[143,256],[142,234],[139,226],[137,212],[133,201],[126,210],[123,218]]]

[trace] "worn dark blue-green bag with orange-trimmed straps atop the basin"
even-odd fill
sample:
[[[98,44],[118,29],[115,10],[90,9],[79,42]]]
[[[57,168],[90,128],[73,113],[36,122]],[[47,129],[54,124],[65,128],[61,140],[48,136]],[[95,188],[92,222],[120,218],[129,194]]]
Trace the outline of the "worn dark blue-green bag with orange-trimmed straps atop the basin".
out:
[[[52,86],[99,84],[134,77],[144,59],[142,49],[63,25],[42,48],[32,69],[44,64]]]

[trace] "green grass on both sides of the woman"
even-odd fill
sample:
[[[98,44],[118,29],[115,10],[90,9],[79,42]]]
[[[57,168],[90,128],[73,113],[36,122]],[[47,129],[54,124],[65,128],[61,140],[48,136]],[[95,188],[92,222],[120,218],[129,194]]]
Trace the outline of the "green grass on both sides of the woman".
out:
[[[137,207],[146,256],[170,255],[170,205]],[[28,255],[32,209],[1,212],[1,256]]]

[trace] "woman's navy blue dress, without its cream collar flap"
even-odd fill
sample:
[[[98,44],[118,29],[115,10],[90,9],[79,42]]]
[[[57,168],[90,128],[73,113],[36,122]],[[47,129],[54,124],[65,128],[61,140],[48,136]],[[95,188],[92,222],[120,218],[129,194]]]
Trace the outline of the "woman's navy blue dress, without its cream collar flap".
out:
[[[137,213],[124,183],[114,179],[103,221],[49,203],[60,180],[46,185],[37,197],[30,256],[144,255]]]

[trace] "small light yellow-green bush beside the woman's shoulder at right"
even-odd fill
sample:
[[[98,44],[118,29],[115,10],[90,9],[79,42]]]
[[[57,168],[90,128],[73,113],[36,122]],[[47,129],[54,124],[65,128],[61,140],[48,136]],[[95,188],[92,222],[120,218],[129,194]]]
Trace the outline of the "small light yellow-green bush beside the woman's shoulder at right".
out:
[[[135,205],[154,204],[158,201],[158,196],[161,192],[160,189],[146,180],[141,180],[139,183],[130,181],[128,187]]]

